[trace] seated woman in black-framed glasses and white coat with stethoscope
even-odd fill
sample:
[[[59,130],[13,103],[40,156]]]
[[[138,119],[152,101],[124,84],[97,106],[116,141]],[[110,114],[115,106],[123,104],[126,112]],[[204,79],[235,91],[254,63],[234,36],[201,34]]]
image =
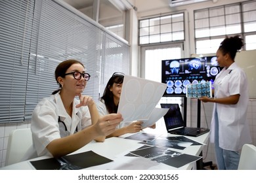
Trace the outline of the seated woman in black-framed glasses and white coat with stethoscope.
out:
[[[92,97],[81,94],[89,78],[83,64],[75,59],[56,67],[60,89],[41,100],[32,114],[33,146],[38,156],[65,156],[94,139],[104,141],[123,120],[121,114],[100,117]]]

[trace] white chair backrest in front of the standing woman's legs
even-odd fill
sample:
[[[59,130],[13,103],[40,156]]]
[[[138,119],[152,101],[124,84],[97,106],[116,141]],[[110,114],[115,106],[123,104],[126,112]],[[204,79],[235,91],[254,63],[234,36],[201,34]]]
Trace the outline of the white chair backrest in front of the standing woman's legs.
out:
[[[256,146],[244,144],[238,170],[256,170]]]

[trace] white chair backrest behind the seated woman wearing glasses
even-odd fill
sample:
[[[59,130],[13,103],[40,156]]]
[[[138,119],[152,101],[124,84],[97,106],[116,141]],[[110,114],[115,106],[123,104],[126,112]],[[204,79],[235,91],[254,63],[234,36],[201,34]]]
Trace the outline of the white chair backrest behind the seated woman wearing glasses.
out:
[[[26,153],[33,146],[32,132],[30,128],[14,129],[9,134],[5,165],[11,165],[23,161]]]

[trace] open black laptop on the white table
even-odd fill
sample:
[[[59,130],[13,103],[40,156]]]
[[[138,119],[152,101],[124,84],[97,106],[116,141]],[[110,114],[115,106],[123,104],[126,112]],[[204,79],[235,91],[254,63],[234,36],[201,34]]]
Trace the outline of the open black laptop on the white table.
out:
[[[161,108],[169,108],[167,113],[163,116],[165,126],[168,133],[175,135],[185,135],[191,137],[198,137],[204,133],[209,132],[209,129],[202,127],[186,127],[182,118],[181,109],[179,104],[161,103]]]

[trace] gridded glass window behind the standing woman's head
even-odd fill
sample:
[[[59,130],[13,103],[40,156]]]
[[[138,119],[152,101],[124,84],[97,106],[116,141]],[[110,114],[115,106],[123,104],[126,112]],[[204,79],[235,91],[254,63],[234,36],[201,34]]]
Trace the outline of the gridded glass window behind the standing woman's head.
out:
[[[245,50],[253,49],[253,35],[256,35],[256,1],[195,10],[194,27],[196,54],[213,53],[216,51],[214,49],[218,48],[215,41],[219,41],[219,44],[224,37],[234,35],[244,38]]]

